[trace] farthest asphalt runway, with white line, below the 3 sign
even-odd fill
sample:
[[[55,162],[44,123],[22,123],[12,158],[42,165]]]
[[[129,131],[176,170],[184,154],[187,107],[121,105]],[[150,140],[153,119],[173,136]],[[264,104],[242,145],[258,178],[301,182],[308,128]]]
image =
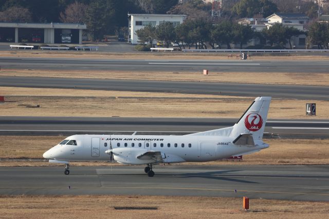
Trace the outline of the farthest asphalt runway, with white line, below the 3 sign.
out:
[[[4,69],[291,72],[328,73],[329,62],[317,60],[129,60],[79,58],[0,58]]]

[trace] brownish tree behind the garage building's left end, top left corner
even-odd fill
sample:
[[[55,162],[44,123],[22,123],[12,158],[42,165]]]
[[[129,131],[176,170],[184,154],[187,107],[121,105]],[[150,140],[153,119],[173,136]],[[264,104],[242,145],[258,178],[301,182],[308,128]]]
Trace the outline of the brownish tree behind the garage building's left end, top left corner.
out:
[[[32,15],[27,8],[13,6],[0,12],[1,22],[31,22]]]

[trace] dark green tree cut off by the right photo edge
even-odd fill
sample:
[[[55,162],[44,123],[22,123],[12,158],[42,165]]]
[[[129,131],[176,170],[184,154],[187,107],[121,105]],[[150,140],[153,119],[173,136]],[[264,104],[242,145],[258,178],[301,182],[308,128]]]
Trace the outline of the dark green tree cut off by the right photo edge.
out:
[[[318,45],[319,49],[322,49],[322,46],[327,47],[329,43],[329,24],[314,22],[309,27],[308,39],[310,43]]]

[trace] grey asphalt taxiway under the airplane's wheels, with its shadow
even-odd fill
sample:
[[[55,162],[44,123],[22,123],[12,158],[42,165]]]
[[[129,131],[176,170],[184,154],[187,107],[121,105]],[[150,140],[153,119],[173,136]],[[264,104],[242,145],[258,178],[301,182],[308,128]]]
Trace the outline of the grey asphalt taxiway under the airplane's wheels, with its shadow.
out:
[[[328,166],[1,167],[2,195],[178,195],[329,200]],[[70,186],[70,189],[67,187]],[[234,190],[237,192],[235,193]]]

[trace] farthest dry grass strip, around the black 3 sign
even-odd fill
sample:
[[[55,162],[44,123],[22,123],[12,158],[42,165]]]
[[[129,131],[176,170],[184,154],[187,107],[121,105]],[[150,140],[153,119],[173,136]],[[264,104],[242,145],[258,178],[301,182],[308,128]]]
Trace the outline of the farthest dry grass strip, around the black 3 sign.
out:
[[[195,59],[195,60],[232,60],[230,53],[199,53],[199,52],[90,52],[90,51],[42,51],[42,50],[11,50],[1,51],[0,57],[25,58],[80,58],[80,59]],[[252,54],[252,60],[328,60],[327,56],[316,54]]]

